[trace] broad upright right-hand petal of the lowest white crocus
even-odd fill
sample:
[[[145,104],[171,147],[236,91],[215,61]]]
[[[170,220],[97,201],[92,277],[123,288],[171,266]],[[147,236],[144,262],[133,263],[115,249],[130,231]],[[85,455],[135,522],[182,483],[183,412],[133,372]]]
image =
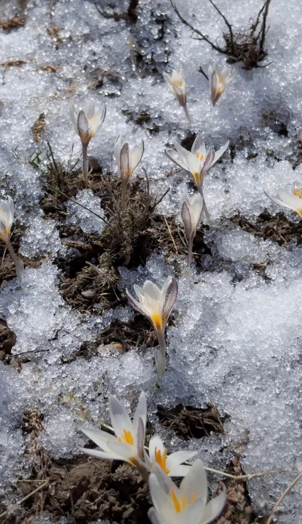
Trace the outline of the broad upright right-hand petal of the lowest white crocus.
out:
[[[191,466],[191,470],[180,485],[180,490],[187,500],[191,500],[194,495],[196,498],[202,499],[204,505],[206,504],[208,496],[207,474],[201,460],[195,461]]]

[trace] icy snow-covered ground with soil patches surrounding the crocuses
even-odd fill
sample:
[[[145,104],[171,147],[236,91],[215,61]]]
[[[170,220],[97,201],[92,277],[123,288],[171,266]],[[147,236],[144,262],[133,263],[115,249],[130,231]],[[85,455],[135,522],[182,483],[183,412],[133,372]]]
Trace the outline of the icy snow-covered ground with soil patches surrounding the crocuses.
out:
[[[210,2],[176,5],[223,46],[226,26]],[[217,6],[242,33],[262,2]],[[14,199],[12,243],[25,264],[20,288],[0,246],[1,519],[146,522],[150,499],[140,477],[80,456],[79,446],[92,443],[77,430],[109,422],[109,393],[131,413],[143,389],[147,442],[156,431],[170,452],[197,450],[206,466],[235,475],[278,470],[247,483],[208,475],[210,496],[219,483],[228,487],[220,524],[264,522],[302,469],[302,223],[263,193],[302,185],[301,9],[272,0],[259,64],[268,65],[228,66],[236,76],[212,108],[198,70],[226,56],[192,38],[170,2],[97,7],[0,1],[0,195]],[[191,129],[162,79],[179,67]],[[69,104],[90,98],[107,114],[88,148],[91,173],[82,177]],[[164,149],[175,155],[175,142],[191,147],[198,131],[208,147],[228,139],[230,147],[205,179],[212,223],[197,232],[188,285],[178,209],[195,189]],[[145,143],[122,227],[113,160],[120,134]],[[158,380],[156,337],[127,305],[125,289],[168,275],[179,293]],[[279,506],[280,524],[293,512],[302,523],[301,500],[298,483]]]

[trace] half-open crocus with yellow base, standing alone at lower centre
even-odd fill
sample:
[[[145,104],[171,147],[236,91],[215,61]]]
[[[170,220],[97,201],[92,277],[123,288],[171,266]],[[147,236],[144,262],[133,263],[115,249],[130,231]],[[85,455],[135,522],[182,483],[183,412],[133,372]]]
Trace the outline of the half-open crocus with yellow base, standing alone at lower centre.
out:
[[[153,324],[159,341],[159,350],[155,350],[156,369],[159,375],[163,375],[166,362],[165,326],[177,298],[177,282],[175,278],[167,277],[162,288],[150,280],[146,280],[143,287],[135,285],[133,288],[138,300],[126,290],[128,302]]]

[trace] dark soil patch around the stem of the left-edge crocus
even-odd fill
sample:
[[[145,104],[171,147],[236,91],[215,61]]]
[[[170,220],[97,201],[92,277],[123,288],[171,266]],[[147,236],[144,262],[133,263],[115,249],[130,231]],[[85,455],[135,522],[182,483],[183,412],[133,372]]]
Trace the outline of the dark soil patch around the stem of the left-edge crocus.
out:
[[[14,227],[14,226],[13,226]],[[15,249],[15,253],[18,258],[23,260],[25,267],[39,267],[42,263],[42,258],[27,258],[20,256],[18,254],[19,242],[21,236],[25,233],[25,226],[16,224],[12,231],[12,236],[10,237],[10,242]],[[9,255],[4,242],[0,240],[0,285],[5,280],[12,280],[16,277],[16,268],[12,257]]]

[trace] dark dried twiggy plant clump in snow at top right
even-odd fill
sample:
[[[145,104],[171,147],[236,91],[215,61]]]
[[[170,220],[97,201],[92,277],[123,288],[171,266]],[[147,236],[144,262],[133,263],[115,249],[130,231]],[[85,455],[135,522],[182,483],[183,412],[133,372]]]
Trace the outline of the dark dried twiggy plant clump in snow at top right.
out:
[[[216,9],[217,13],[221,16],[225,22],[228,30],[222,32],[223,40],[225,41],[225,47],[220,47],[216,43],[212,42],[210,38],[205,35],[198,28],[194,27],[189,21],[187,21],[172,0],[171,5],[177,14],[178,18],[189,27],[195,34],[195,38],[200,41],[205,41],[211,46],[212,49],[220,54],[225,54],[229,58],[228,63],[243,62],[243,69],[253,69],[255,67],[265,67],[265,65],[259,65],[267,56],[267,50],[265,49],[265,36],[269,27],[266,28],[266,18],[269,13],[269,6],[271,0],[265,0],[262,8],[260,9],[257,18],[253,21],[252,25],[245,31],[234,32],[232,25],[229,23],[225,15],[223,15],[214,4],[212,0],[209,2]]]

